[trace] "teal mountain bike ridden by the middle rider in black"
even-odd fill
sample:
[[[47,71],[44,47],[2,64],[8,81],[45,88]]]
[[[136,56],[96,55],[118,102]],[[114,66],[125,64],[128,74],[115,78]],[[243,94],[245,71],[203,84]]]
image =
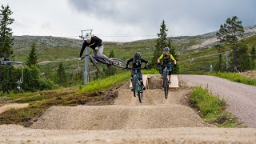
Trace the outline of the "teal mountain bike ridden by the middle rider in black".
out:
[[[143,102],[143,87],[142,83],[138,80],[138,70],[143,70],[146,68],[128,68],[128,70],[135,70],[134,74],[132,75],[132,85],[134,91],[134,97],[138,95],[138,101]]]

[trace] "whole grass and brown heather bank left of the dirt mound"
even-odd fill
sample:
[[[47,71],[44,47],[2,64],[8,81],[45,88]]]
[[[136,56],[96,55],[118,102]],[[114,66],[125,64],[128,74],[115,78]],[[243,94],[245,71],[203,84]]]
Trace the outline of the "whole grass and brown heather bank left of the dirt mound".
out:
[[[0,114],[0,124],[19,124],[30,126],[34,119],[42,115],[50,106],[78,106],[86,102],[101,100],[98,91],[108,90],[126,82],[130,78],[130,71],[116,74],[108,78],[89,82],[82,90],[77,86],[61,90],[45,90],[35,93],[10,94],[8,102],[30,103],[23,109],[10,109]],[[1,99],[0,99],[1,100]],[[2,99],[4,101],[4,99]]]

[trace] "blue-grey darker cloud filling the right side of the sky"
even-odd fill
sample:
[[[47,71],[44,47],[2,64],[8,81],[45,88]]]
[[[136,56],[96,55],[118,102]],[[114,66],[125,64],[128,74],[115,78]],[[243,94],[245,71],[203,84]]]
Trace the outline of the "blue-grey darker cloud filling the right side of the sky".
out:
[[[139,26],[155,33],[162,19],[174,34],[202,34],[218,30],[226,18],[237,15],[244,26],[254,25],[256,1],[248,0],[69,0],[80,13],[117,24]],[[185,30],[183,30],[183,27]],[[170,30],[171,31],[171,30]]]

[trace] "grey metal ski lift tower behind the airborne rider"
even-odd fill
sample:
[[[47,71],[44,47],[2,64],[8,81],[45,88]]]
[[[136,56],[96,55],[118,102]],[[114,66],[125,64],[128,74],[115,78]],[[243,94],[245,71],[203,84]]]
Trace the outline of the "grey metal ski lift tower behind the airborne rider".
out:
[[[85,36],[87,33],[90,33],[92,32],[93,30],[81,30],[82,32],[82,35],[79,36],[79,38],[82,38],[83,41],[85,41]],[[86,46],[86,55],[89,54],[89,50],[88,50],[88,46]],[[85,70],[84,70],[84,73],[83,73],[83,84],[86,85],[88,82],[89,82],[89,58],[86,56],[85,57]]]

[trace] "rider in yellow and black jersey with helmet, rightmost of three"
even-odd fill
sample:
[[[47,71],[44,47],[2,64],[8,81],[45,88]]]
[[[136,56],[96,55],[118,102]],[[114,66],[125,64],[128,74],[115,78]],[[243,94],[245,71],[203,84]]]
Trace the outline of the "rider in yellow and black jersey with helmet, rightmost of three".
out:
[[[176,60],[174,59],[173,55],[170,54],[170,48],[165,47],[163,49],[165,52],[158,58],[158,66],[161,66],[160,60],[163,59],[162,61],[162,69],[161,69],[161,74],[163,73],[163,70],[165,69],[164,65],[168,65],[167,69],[169,70],[169,83],[170,83],[170,78],[171,78],[171,70],[172,67],[170,66],[170,60],[174,61],[174,66],[176,66]],[[162,80],[162,87],[163,87],[163,80]]]

